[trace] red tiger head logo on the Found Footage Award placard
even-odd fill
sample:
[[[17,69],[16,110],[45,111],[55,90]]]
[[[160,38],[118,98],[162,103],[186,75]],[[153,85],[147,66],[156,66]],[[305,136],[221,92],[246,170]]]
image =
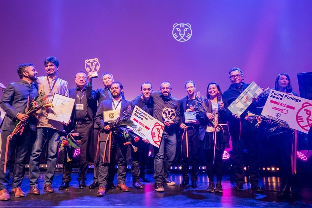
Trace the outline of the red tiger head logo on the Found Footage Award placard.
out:
[[[310,127],[312,126],[312,104],[311,103],[303,103],[302,107],[298,110],[296,115],[296,121],[298,125],[306,130],[309,131]]]

